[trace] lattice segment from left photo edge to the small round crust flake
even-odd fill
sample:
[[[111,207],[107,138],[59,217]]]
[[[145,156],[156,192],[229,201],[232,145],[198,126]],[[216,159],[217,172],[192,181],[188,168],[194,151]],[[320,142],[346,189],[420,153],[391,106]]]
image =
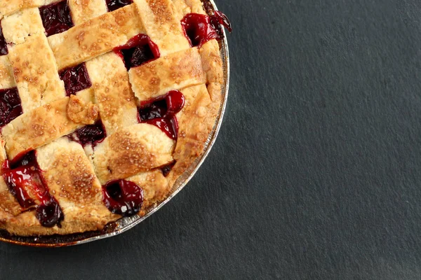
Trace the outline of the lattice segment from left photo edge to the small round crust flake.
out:
[[[6,125],[2,134],[6,140],[6,152],[9,159],[25,151],[69,134],[83,123],[74,123],[67,117],[69,97],[56,100],[25,113]]]

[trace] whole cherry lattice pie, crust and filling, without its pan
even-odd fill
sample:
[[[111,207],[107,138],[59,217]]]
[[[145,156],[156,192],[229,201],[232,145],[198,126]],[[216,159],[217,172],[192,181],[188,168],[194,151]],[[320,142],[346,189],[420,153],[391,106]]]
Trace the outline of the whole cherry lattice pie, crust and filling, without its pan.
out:
[[[200,0],[0,0],[0,229],[145,214],[203,152],[225,15]]]

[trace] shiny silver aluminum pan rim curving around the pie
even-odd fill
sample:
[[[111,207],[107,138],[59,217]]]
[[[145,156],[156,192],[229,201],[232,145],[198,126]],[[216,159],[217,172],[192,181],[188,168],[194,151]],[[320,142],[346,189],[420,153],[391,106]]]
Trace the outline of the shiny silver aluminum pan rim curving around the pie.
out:
[[[216,4],[213,0],[202,0],[207,3],[210,3],[210,8],[213,10],[218,10]],[[32,246],[32,247],[63,247],[63,246],[73,246],[78,244],[84,244],[95,240],[105,239],[108,237],[113,237],[115,235],[119,235],[131,228],[135,227],[142,221],[145,221],[149,216],[154,214],[156,211],[161,209],[163,205],[169,202],[175,195],[177,195],[182,188],[186,186],[186,184],[193,178],[194,174],[196,174],[199,167],[201,167],[202,163],[208,156],[208,153],[215,144],[216,137],[218,136],[218,132],[222,125],[222,118],[225,113],[225,106],[227,105],[227,98],[228,98],[228,90],[229,90],[229,51],[228,51],[228,43],[227,37],[224,29],[224,38],[219,42],[220,44],[220,56],[222,58],[222,67],[224,71],[224,81],[221,87],[221,94],[222,94],[222,101],[220,104],[220,111],[218,116],[215,120],[215,125],[213,130],[210,132],[208,136],[208,140],[204,146],[204,151],[202,155],[197,158],[193,164],[175,181],[173,188],[163,202],[156,204],[154,207],[147,209],[147,212],[144,216],[131,216],[126,218],[121,218],[118,221],[109,223],[105,226],[103,230],[94,231],[94,232],[82,232],[82,233],[75,233],[72,235],[48,235],[48,236],[37,236],[37,237],[20,237],[16,235],[10,235],[5,230],[0,230],[0,241],[4,241],[11,244],[18,244],[24,246]]]

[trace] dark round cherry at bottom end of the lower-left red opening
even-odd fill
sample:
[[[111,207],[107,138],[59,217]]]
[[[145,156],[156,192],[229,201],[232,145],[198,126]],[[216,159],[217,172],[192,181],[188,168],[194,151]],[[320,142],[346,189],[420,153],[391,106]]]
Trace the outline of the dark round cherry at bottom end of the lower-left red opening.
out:
[[[50,197],[49,200],[39,204],[38,208],[36,208],[35,216],[39,223],[46,228],[52,228],[54,225],[58,225],[61,228],[60,222],[65,218],[60,205],[54,197]]]

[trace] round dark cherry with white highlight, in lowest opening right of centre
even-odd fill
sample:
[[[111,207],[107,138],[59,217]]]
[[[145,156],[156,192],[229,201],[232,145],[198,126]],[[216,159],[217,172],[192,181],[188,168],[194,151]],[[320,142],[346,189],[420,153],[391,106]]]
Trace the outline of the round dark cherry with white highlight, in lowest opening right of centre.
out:
[[[123,179],[108,182],[102,187],[105,206],[114,214],[133,216],[142,208],[143,190]]]

